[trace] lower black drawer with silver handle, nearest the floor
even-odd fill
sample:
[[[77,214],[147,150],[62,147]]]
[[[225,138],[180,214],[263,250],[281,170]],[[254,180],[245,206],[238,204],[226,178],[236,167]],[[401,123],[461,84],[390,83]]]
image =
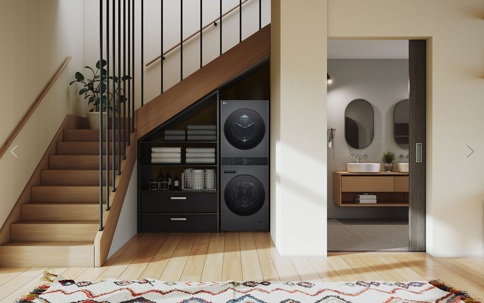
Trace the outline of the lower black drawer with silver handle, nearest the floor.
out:
[[[217,232],[217,215],[142,214],[141,232]]]

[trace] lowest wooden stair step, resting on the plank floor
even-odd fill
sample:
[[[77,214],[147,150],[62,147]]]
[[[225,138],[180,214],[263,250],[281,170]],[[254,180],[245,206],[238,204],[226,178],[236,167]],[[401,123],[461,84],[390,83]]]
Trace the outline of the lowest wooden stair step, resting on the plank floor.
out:
[[[0,245],[0,266],[93,267],[94,241],[10,241]]]

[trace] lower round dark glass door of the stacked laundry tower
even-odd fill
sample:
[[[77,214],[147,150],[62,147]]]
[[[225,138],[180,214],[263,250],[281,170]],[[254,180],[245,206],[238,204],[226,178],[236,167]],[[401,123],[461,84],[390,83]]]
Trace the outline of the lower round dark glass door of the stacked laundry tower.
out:
[[[228,209],[239,216],[250,216],[264,205],[266,193],[259,180],[251,175],[238,175],[230,180],[224,190]]]

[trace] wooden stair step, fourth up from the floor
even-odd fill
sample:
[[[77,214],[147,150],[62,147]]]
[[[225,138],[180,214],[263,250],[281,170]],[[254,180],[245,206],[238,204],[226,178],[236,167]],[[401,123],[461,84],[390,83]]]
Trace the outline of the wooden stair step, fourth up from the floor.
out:
[[[109,191],[111,191],[111,187]],[[99,202],[99,186],[37,185],[31,187],[31,202]],[[103,187],[106,202],[106,187]]]

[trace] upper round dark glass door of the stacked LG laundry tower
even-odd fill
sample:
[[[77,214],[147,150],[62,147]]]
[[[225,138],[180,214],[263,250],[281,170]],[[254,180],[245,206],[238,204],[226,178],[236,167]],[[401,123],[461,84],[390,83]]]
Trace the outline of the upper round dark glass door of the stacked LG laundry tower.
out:
[[[240,109],[228,115],[224,123],[224,135],[228,143],[238,149],[256,147],[266,132],[262,117],[249,109]]]

